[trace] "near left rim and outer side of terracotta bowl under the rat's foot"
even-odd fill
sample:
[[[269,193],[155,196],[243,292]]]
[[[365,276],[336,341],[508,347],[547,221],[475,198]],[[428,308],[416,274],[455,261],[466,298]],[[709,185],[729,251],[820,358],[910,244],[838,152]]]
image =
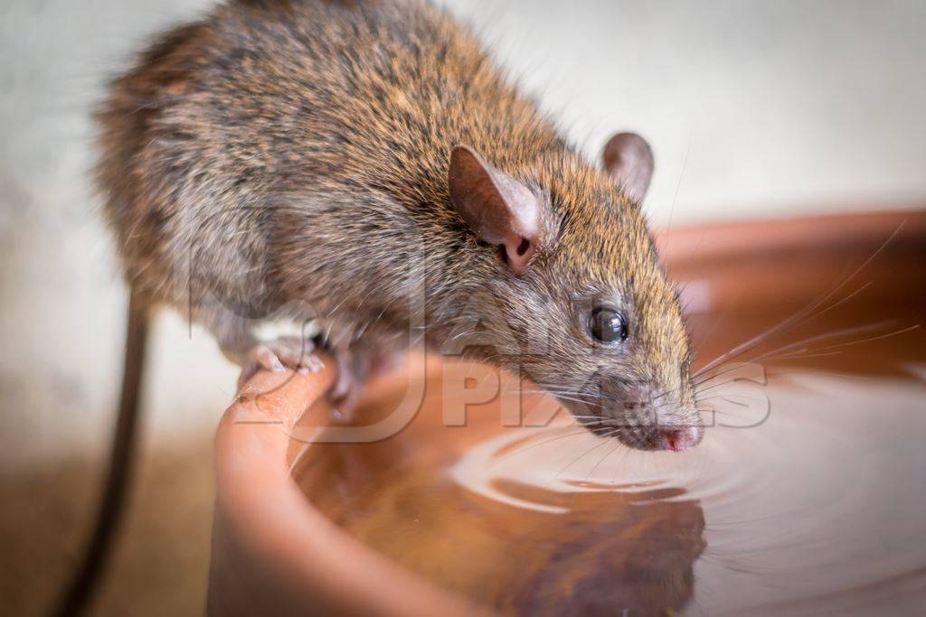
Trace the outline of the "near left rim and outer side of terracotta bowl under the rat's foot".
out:
[[[335,363],[323,360],[315,374],[258,373],[219,422],[207,613],[491,614],[348,536],[296,484],[286,428],[326,404]]]

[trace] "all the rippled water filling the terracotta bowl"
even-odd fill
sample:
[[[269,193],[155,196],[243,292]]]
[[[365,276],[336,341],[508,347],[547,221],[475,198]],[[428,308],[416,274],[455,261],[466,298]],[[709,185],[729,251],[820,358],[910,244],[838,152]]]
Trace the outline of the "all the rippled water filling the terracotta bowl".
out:
[[[716,347],[756,327],[728,323]],[[735,372],[694,450],[628,450],[566,417],[503,427],[497,401],[448,427],[434,388],[406,431],[313,446],[296,475],[348,533],[506,614],[917,614],[926,339],[853,336],[851,354]],[[489,369],[429,383],[457,370]]]

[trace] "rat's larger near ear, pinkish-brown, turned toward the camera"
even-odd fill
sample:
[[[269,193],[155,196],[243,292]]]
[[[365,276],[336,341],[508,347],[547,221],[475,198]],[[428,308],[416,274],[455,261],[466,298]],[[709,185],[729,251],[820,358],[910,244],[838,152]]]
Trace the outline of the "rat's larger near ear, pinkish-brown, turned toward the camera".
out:
[[[515,274],[527,267],[540,240],[540,206],[526,186],[482,160],[469,146],[450,153],[450,201],[476,235],[502,248]]]

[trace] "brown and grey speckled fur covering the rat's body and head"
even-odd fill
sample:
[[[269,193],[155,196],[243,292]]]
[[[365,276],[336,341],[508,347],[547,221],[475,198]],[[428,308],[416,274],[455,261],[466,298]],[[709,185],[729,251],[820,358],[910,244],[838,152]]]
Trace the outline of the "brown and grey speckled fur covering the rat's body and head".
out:
[[[241,316],[284,309],[319,315],[340,345],[488,341],[469,353],[521,366],[574,409],[598,409],[604,379],[609,405],[648,384],[669,392],[670,422],[694,414],[688,338],[638,204],[441,9],[230,2],[161,37],[113,82],[99,122],[131,285],[191,309],[227,349],[244,344]],[[521,277],[449,202],[456,144],[542,198]],[[426,313],[408,300],[419,290]],[[629,316],[620,351],[588,335],[595,298]],[[646,447],[635,430],[619,437]]]

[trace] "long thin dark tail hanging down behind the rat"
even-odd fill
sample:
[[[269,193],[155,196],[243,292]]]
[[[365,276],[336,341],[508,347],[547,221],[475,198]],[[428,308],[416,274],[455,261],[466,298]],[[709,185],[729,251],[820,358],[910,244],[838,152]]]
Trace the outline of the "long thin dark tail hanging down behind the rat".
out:
[[[129,319],[125,337],[125,364],[122,369],[122,392],[119,416],[109,454],[106,486],[100,497],[93,535],[74,571],[73,578],[58,598],[52,612],[55,617],[72,617],[86,610],[96,584],[106,568],[113,537],[119,528],[126,487],[134,460],[138,406],[144,374],[144,350],[148,338],[148,303],[137,290],[131,291]]]

